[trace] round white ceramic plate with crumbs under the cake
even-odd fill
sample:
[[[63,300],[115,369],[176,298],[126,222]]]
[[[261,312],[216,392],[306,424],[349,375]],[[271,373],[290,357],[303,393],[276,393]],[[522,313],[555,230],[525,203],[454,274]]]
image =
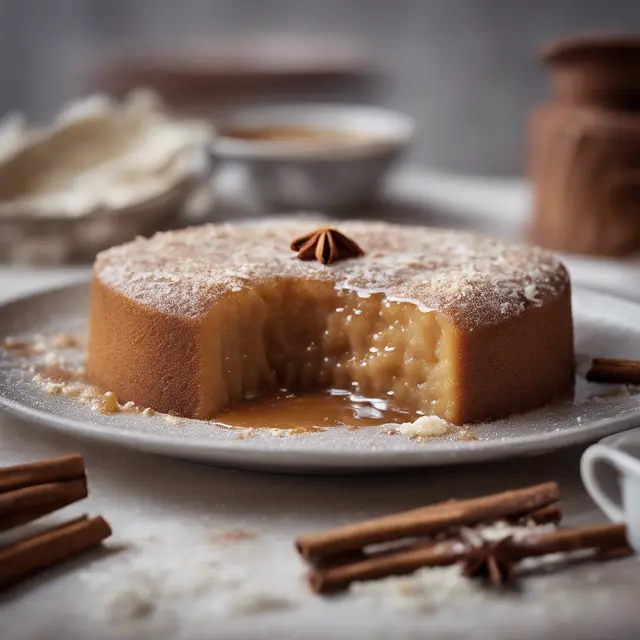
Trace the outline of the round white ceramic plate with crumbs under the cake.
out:
[[[87,284],[80,284],[0,307],[0,337],[82,330],[88,291]],[[640,304],[579,289],[574,316],[578,353],[640,359]],[[379,427],[333,427],[283,437],[263,429],[238,439],[237,431],[204,421],[184,420],[177,426],[159,415],[96,414],[76,400],[45,393],[0,349],[0,406],[26,420],[164,455],[288,473],[381,471],[539,455],[640,425],[640,390],[622,388],[619,395],[620,387],[593,385],[580,376],[576,389],[573,403],[472,425],[476,441],[460,441],[454,433],[415,442]],[[595,397],[585,401],[586,395]]]

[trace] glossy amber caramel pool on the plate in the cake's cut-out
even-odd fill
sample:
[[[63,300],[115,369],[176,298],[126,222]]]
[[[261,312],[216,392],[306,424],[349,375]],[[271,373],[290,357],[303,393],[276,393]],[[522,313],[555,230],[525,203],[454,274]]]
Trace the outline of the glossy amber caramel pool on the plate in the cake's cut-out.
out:
[[[347,391],[290,393],[245,400],[218,416],[228,427],[319,431],[325,427],[373,427],[413,421],[418,414],[400,410],[389,400],[362,398]]]

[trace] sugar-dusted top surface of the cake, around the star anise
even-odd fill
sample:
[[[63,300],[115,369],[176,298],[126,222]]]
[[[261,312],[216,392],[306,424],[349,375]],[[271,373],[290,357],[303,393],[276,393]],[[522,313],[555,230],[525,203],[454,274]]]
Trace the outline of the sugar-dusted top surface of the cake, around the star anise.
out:
[[[196,317],[254,283],[302,278],[362,296],[382,293],[439,311],[468,329],[518,315],[569,284],[562,263],[539,247],[383,222],[331,224],[365,255],[329,266],[301,261],[291,241],[327,222],[271,218],[138,238],[100,253],[95,274],[128,298],[170,315]]]

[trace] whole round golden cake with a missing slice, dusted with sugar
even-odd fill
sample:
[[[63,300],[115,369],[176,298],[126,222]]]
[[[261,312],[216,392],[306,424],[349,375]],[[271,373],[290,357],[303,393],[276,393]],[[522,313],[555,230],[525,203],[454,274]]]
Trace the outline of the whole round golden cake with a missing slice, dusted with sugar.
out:
[[[323,224],[206,225],[99,254],[90,381],[121,402],[193,418],[277,389],[334,388],[454,424],[571,388],[570,283],[551,253],[341,222],[363,255],[299,259],[292,241]]]

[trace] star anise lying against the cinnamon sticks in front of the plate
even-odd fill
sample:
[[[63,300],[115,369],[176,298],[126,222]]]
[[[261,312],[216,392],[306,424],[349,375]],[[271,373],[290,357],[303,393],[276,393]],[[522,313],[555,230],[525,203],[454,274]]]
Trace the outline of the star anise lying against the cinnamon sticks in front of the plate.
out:
[[[513,575],[513,561],[508,553],[511,536],[501,540],[485,540],[472,529],[461,529],[460,537],[468,551],[462,562],[462,573],[467,578],[475,576],[489,580],[494,586],[507,582]]]

